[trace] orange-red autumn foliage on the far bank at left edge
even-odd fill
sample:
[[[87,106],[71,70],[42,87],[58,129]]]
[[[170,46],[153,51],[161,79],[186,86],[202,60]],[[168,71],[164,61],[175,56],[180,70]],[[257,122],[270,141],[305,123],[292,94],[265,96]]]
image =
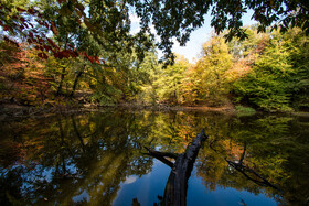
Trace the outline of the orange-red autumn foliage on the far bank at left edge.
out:
[[[20,105],[42,105],[50,94],[52,78],[44,74],[44,61],[38,58],[35,50],[26,45],[1,43],[0,71],[1,99]]]

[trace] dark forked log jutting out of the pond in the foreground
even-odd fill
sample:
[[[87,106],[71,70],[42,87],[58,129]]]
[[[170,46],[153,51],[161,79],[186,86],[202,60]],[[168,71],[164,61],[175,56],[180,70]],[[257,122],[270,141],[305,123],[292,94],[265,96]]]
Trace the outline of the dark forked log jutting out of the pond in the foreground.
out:
[[[193,140],[191,145],[187,148],[187,151],[181,154],[173,154],[167,152],[158,152],[148,150],[148,154],[157,158],[164,164],[172,167],[166,191],[164,196],[162,199],[162,205],[185,205],[187,203],[187,188],[188,188],[188,180],[191,175],[193,164],[202,145],[202,142],[206,140],[206,134],[204,129],[198,137]],[[175,159],[175,162],[172,163],[171,161],[167,160],[168,158]]]

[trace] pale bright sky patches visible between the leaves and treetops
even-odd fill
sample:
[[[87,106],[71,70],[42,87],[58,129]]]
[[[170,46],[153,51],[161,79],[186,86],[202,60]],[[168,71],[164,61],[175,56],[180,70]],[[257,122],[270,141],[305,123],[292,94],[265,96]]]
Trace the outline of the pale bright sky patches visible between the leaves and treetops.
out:
[[[243,24],[252,25],[256,23],[254,20],[251,20],[253,11],[248,11],[248,13],[243,17]],[[135,15],[130,15],[131,19],[131,33],[137,33],[139,31],[139,19]],[[185,46],[180,46],[177,41],[174,41],[174,45],[172,51],[175,54],[183,55],[189,62],[194,63],[194,58],[199,59],[199,55],[202,51],[202,45],[206,41],[209,41],[214,33],[213,28],[211,28],[211,15],[205,15],[205,22],[202,28],[193,31],[190,35],[190,41],[187,42]],[[152,32],[154,32],[153,26],[151,28]],[[162,56],[162,52],[158,51],[159,57]]]

